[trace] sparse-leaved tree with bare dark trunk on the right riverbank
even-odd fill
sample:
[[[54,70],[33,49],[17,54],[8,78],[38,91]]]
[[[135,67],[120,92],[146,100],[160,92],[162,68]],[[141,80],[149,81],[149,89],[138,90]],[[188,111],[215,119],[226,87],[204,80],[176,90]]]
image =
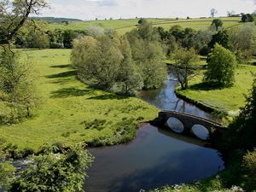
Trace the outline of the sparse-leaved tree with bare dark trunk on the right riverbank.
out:
[[[199,57],[195,49],[178,48],[174,53],[174,59],[177,80],[182,90],[186,90],[189,87],[189,79],[195,75],[195,62],[199,61]]]

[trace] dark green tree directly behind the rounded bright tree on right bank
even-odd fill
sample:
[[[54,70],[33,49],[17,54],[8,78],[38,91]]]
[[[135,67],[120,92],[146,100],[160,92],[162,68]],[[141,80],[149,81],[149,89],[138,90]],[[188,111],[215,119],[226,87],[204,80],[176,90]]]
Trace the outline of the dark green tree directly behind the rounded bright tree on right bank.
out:
[[[230,38],[226,30],[221,30],[212,35],[212,40],[208,44],[208,47],[212,49],[215,44],[220,44],[226,49],[230,49]]]

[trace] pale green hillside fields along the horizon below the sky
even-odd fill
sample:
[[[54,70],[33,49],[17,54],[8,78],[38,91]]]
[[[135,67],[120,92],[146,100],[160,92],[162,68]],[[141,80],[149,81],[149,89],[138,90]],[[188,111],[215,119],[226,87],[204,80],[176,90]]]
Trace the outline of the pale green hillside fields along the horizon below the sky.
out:
[[[231,18],[220,18],[224,20],[224,27],[241,25],[239,21],[240,17],[231,17]],[[131,31],[134,27],[137,26],[139,19],[130,19],[130,20],[94,20],[94,21],[78,21],[78,22],[70,22],[68,25],[60,24],[60,23],[49,23],[48,29],[54,30],[56,28],[61,29],[73,29],[73,30],[84,30],[88,26],[102,26],[104,28],[113,28],[119,34],[125,34],[125,32]],[[180,25],[183,27],[191,27],[195,30],[200,30],[201,28],[205,28],[210,26],[212,23],[212,18],[206,19],[190,19],[190,20],[175,20],[175,19],[147,19],[149,22],[152,22],[154,26],[162,26],[166,30],[170,29],[174,25]]]

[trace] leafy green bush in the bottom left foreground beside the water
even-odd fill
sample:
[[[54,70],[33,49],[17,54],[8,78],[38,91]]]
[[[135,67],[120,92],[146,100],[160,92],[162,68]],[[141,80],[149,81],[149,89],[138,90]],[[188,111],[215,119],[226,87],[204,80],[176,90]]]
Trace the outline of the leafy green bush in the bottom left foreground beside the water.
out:
[[[9,191],[82,191],[85,171],[93,158],[82,144],[55,153],[57,147],[44,147],[44,154],[30,157]]]

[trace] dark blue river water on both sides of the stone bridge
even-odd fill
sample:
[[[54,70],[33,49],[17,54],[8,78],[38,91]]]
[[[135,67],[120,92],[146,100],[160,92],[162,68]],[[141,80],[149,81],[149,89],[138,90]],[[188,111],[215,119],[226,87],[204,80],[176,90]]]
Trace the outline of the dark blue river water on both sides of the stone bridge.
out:
[[[210,113],[178,99],[177,80],[170,73],[159,90],[145,90],[141,98],[160,109],[215,119]],[[87,192],[135,192],[166,184],[190,183],[224,169],[218,150],[198,139],[145,124],[131,143],[92,148],[96,157],[88,171]]]

